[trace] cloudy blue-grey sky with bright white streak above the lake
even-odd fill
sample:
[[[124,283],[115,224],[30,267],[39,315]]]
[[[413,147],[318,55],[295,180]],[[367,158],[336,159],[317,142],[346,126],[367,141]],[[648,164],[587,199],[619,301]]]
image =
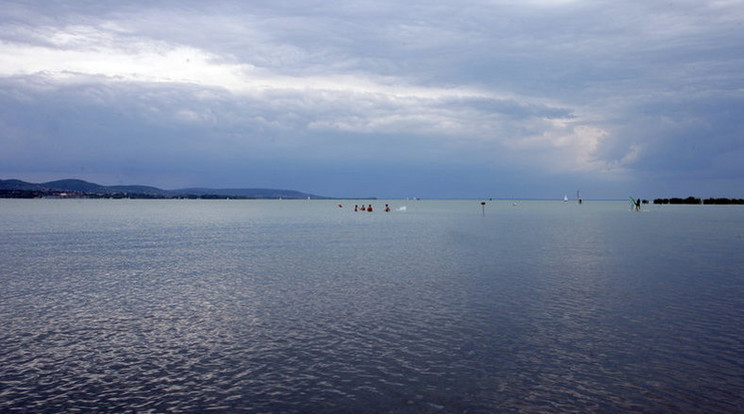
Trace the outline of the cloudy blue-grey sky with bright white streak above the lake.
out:
[[[744,1],[13,1],[0,179],[744,197]]]

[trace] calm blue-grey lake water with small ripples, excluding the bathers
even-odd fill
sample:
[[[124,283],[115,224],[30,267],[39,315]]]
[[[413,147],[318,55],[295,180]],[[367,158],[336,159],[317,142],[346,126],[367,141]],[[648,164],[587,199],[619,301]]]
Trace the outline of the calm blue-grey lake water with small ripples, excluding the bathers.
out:
[[[0,200],[0,412],[744,412],[744,207],[387,202]]]

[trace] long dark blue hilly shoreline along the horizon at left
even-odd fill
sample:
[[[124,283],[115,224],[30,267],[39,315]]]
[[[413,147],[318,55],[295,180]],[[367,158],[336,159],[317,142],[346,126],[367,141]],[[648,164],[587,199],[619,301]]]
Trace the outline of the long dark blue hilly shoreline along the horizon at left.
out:
[[[163,190],[145,185],[104,186],[83,180],[65,179],[46,183],[0,180],[0,197],[80,197],[80,198],[245,198],[245,199],[327,199],[329,197],[294,190],[269,188],[185,188]]]

